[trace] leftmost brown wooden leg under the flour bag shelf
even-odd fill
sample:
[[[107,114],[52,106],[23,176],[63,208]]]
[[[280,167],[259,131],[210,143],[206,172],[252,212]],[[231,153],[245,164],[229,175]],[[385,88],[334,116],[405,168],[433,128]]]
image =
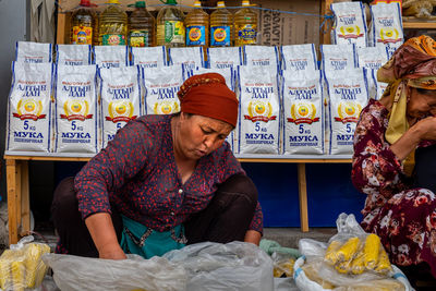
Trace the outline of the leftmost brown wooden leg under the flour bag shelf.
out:
[[[9,217],[9,244],[19,242],[16,219],[16,162],[7,160],[7,186],[8,186],[8,217]]]

